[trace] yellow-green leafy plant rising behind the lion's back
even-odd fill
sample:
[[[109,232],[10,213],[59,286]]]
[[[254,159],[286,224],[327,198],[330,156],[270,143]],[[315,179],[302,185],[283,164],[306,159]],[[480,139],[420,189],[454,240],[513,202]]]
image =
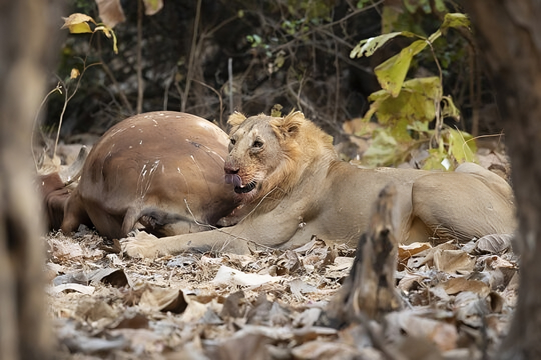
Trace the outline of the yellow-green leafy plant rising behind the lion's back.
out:
[[[440,28],[425,37],[410,31],[398,31],[362,40],[350,57],[371,56],[381,46],[398,36],[415,38],[397,55],[374,69],[382,90],[368,98],[372,103],[363,121],[373,116],[382,125],[373,133],[373,142],[362,162],[371,167],[397,165],[407,160],[412,148],[428,145],[425,169],[454,169],[460,162],[473,161],[476,151],[470,134],[444,125],[443,119],[460,118],[451,96],[443,96],[443,72],[434,52],[434,42],[450,28],[468,28],[469,19],[462,13],[447,13]],[[414,56],[430,49],[439,69],[439,77],[406,80]],[[434,128],[429,124],[434,121]]]

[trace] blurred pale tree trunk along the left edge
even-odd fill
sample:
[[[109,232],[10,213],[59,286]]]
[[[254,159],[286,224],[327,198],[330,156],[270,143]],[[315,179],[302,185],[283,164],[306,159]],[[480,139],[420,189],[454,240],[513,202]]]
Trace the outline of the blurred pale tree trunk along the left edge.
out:
[[[40,202],[30,134],[52,45],[47,0],[0,0],[0,360],[46,359]]]

